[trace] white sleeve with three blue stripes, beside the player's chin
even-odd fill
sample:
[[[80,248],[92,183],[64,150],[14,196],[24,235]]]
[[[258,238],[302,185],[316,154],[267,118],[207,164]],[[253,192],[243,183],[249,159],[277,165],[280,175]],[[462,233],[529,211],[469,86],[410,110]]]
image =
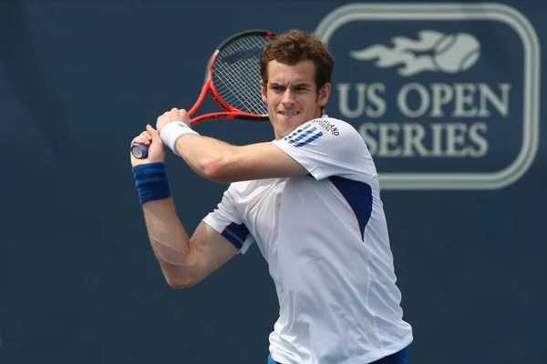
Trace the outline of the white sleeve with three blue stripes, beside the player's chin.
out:
[[[332,117],[310,120],[273,143],[317,180],[338,176],[368,182],[377,174],[363,137]]]

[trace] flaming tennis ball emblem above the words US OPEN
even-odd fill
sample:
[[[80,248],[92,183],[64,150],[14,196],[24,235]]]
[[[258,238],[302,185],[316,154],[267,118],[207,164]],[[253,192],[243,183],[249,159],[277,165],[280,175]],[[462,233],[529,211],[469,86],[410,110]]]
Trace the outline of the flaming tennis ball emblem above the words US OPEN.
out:
[[[377,59],[376,66],[400,66],[401,76],[412,76],[424,71],[456,73],[473,66],[480,56],[479,40],[470,34],[448,35],[434,30],[418,33],[419,39],[405,36],[391,39],[393,47],[371,45],[350,55],[361,61]]]

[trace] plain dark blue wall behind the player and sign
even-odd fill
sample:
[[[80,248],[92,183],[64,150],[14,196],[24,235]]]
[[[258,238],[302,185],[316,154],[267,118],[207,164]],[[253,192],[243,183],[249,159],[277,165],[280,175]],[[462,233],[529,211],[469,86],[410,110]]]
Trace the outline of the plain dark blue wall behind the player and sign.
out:
[[[170,107],[193,104],[207,58],[226,35],[248,28],[315,31],[342,5],[0,2],[0,362],[265,362],[278,306],[258,249],[233,258],[194,288],[169,288],[147,239],[129,142]],[[506,5],[528,19],[541,45],[547,4]],[[523,143],[523,110],[540,111],[532,166],[508,186],[386,188],[382,197],[405,318],[415,332],[413,362],[544,362],[545,97],[540,90],[538,100],[524,104],[519,35],[494,21],[351,26],[329,41],[338,66],[335,83],[383,82],[390,90],[411,81],[513,85],[508,115],[480,120],[489,125],[485,156],[378,157],[380,177],[498,170]],[[480,61],[467,74],[403,80],[393,68],[372,62],[357,67],[347,57],[349,49],[387,45],[393,36],[415,37],[421,29],[476,35]],[[544,75],[533,78],[542,84]],[[344,117],[335,92],[332,97],[329,115]],[[366,120],[348,119],[356,127]],[[391,106],[379,121],[408,122]],[[197,129],[234,144],[273,138],[267,124],[222,121]],[[181,221],[193,230],[226,186],[201,180],[172,155],[168,166]]]

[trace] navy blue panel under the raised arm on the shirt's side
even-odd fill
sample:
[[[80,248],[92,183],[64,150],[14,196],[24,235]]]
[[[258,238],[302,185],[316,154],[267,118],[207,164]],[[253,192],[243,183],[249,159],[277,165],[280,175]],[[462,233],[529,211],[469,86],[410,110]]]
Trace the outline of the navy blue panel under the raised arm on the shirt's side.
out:
[[[352,208],[359,224],[361,239],[364,240],[365,227],[372,214],[372,188],[364,182],[344,177],[333,176],[329,179]]]

